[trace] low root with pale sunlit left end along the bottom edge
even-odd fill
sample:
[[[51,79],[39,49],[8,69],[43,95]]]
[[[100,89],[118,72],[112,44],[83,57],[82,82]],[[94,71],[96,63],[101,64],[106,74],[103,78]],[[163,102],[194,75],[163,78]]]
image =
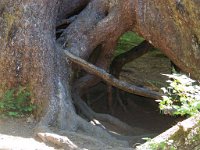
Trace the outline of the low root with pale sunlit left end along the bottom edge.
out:
[[[122,140],[116,140],[112,137],[95,138],[91,135],[78,132],[60,131],[58,134],[49,133],[38,133],[38,136],[42,141],[49,144],[54,144],[58,148],[64,148],[66,150],[74,149],[113,149],[121,147],[121,149],[127,149],[129,147],[128,143]],[[87,144],[85,144],[87,143]]]

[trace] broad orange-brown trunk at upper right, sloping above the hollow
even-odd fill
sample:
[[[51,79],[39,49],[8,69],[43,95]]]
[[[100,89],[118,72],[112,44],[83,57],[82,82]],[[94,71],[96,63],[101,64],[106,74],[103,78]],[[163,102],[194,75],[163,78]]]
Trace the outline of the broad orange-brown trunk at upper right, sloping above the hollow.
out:
[[[200,79],[200,1],[137,0],[135,5],[134,31]]]

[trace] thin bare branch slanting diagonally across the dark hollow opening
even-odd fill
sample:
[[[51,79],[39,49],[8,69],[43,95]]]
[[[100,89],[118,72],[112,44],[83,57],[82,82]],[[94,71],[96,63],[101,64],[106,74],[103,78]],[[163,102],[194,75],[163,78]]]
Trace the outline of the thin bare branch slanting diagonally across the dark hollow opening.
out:
[[[153,99],[161,98],[160,93],[157,93],[157,92],[145,89],[145,88],[134,86],[125,81],[118,80],[113,75],[107,73],[105,70],[98,68],[98,67],[94,66],[93,64],[90,64],[87,61],[85,61],[79,57],[74,56],[73,54],[71,54],[70,52],[68,52],[66,50],[64,52],[65,52],[66,57],[70,61],[81,66],[85,71],[102,78],[103,80],[105,80],[107,83],[109,83],[110,85],[112,85],[114,87],[117,87],[117,88],[124,90],[126,92],[129,92],[129,93],[133,93],[133,94],[144,96],[144,97],[149,97],[149,98],[153,98]]]

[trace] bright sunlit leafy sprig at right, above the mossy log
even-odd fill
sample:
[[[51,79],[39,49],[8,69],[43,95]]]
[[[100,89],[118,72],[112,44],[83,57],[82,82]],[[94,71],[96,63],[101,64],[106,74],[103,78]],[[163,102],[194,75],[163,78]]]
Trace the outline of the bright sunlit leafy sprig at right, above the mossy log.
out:
[[[192,116],[200,110],[200,86],[186,75],[166,75],[169,86],[162,88],[165,96],[159,101],[159,108],[164,114]]]

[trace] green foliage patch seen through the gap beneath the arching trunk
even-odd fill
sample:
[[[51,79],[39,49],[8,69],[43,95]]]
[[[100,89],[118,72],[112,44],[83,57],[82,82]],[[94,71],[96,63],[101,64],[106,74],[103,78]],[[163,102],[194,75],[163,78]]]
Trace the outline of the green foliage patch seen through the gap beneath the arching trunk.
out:
[[[132,47],[140,44],[144,39],[134,32],[126,32],[119,39],[115,56],[130,50]]]

